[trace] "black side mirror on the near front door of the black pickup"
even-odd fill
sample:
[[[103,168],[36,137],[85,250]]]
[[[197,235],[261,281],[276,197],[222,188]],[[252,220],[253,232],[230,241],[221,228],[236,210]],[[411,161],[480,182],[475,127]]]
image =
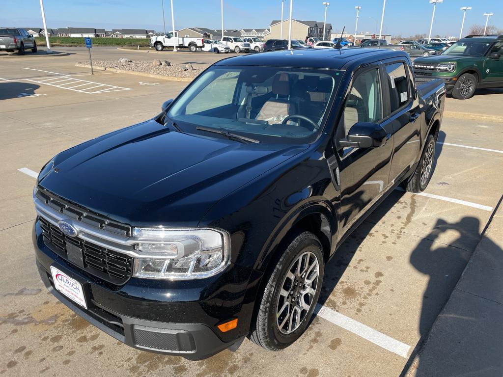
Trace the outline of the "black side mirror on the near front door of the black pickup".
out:
[[[348,136],[339,140],[342,147],[376,148],[386,144],[390,134],[376,123],[358,122],[348,132]]]

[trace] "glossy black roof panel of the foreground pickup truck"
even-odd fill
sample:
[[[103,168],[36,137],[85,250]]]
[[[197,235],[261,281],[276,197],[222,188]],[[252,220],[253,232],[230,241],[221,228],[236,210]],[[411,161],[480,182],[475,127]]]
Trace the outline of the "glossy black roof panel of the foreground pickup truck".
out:
[[[247,54],[222,59],[215,65],[265,65],[279,67],[342,69],[348,62],[366,60],[378,55],[379,59],[403,56],[403,51],[380,50],[371,48],[302,48],[286,51],[274,51],[264,54]]]

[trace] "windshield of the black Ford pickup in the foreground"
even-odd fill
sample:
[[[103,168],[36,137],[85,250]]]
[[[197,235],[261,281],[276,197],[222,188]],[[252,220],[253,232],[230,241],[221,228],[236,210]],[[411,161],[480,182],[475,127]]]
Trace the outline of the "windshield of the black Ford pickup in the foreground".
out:
[[[167,118],[189,133],[200,133],[200,126],[261,142],[306,142],[320,132],[339,78],[340,71],[326,69],[214,66],[182,93]]]

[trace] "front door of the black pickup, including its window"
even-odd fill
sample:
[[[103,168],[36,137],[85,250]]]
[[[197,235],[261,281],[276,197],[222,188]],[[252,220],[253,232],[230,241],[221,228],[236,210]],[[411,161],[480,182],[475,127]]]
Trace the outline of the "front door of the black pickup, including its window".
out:
[[[388,186],[393,126],[385,116],[380,72],[376,63],[356,73],[333,138],[337,164],[332,165],[337,171],[332,171],[332,176],[337,177],[341,191],[340,234],[344,234]],[[339,140],[358,122],[381,125],[389,135],[386,144],[378,148],[340,146]]]

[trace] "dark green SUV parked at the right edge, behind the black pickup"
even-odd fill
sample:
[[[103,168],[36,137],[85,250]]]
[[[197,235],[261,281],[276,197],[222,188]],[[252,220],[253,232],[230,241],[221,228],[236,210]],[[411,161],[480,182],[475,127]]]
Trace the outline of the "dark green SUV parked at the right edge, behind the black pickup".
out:
[[[441,55],[413,62],[416,81],[442,79],[447,92],[458,100],[473,96],[475,89],[503,87],[503,35],[469,35]]]

